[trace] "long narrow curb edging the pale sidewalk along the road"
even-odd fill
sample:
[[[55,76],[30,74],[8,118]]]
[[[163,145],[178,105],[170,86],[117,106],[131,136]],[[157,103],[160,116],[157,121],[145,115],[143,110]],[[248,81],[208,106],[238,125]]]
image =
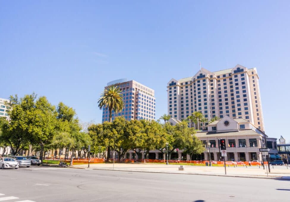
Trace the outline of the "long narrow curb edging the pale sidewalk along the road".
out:
[[[248,175],[248,176],[240,176],[240,175],[221,175],[221,174],[203,174],[203,173],[172,173],[172,172],[154,172],[154,171],[133,171],[133,170],[112,170],[112,169],[96,169],[93,170],[110,170],[110,171],[122,171],[122,172],[146,172],[146,173],[166,173],[166,174],[190,174],[190,175],[207,175],[207,176],[218,176],[218,177],[241,177],[241,178],[257,178],[257,179],[279,179],[279,180],[287,180],[281,176],[270,176],[270,177],[258,177],[257,175]]]

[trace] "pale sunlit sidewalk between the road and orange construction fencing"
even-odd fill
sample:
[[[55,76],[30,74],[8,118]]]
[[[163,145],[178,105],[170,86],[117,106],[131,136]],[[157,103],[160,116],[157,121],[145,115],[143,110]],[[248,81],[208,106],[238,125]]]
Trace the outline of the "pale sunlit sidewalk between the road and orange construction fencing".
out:
[[[75,168],[87,168],[87,164],[75,165]],[[150,164],[150,163],[116,163],[114,170],[130,171],[130,172],[154,172],[154,173],[175,173],[175,174],[199,174],[199,175],[215,175],[215,176],[231,176],[231,177],[259,177],[267,178],[267,170],[262,167],[226,167],[227,175],[225,175],[224,167],[209,166],[187,166],[183,171],[178,170],[179,165],[166,164]],[[90,164],[90,169],[97,170],[113,170],[113,164]],[[268,173],[268,178],[281,178],[290,180],[290,169],[272,169]]]

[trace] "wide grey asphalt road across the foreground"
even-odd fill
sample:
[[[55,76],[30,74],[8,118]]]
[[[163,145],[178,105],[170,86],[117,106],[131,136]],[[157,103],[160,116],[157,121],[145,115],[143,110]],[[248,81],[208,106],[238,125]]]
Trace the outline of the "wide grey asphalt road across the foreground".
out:
[[[9,202],[290,201],[286,180],[37,166],[0,170],[0,179]]]

